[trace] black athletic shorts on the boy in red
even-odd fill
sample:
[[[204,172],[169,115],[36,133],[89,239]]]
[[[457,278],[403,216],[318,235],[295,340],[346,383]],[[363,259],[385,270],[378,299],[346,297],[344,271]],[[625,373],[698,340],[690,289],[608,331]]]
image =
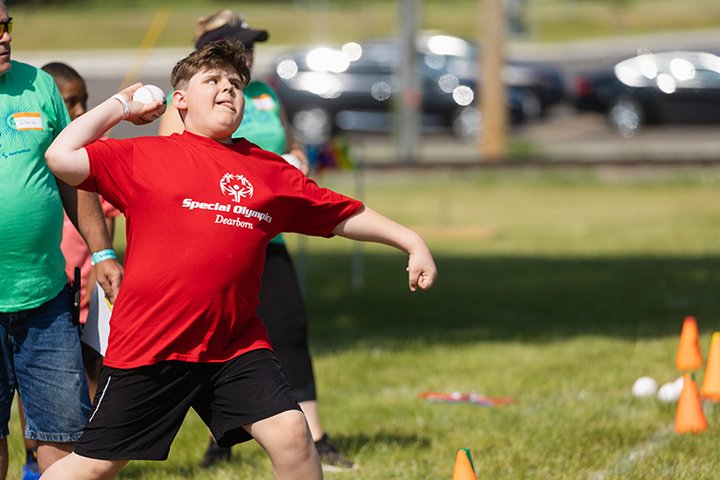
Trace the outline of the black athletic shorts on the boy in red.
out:
[[[300,410],[270,350],[224,363],[103,366],[75,453],[100,460],[165,460],[191,407],[225,447],[252,438],[243,425]]]

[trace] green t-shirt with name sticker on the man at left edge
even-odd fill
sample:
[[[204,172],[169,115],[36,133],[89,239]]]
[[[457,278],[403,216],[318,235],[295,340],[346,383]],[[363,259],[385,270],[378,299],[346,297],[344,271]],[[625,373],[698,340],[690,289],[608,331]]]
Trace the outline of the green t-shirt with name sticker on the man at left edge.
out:
[[[50,75],[11,65],[0,75],[0,312],[37,307],[67,281],[62,202],[45,150],[70,117]]]

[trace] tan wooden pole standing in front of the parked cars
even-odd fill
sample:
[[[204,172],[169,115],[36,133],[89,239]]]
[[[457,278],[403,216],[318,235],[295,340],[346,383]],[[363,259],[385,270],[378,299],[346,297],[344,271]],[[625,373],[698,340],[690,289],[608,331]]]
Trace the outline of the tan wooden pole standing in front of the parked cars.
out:
[[[507,136],[507,92],[503,80],[505,15],[503,0],[478,0],[478,3],[478,24],[482,25],[482,53],[478,59],[482,133],[478,149],[483,160],[493,161],[505,156]]]

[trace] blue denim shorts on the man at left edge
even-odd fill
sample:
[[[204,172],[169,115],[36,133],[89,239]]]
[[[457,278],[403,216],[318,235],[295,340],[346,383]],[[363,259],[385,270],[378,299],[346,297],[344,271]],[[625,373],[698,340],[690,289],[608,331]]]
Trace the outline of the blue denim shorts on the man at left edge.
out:
[[[37,308],[0,313],[0,438],[9,433],[17,389],[25,408],[25,437],[70,443],[80,438],[90,399],[70,291]]]

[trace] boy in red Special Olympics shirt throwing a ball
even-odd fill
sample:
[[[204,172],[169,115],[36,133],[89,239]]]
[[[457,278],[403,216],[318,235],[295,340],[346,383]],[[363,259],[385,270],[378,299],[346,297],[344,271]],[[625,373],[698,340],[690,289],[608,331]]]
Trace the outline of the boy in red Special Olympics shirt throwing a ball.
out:
[[[210,43],[172,72],[182,134],[94,142],[121,119],[143,124],[162,114],[161,102],[130,100],[136,84],[48,149],[58,177],[125,214],[127,251],[90,418],[75,452],[43,478],[111,478],[129,460],[163,460],[191,407],[219,445],[254,438],[276,478],[322,478],[255,314],[268,241],[288,231],[384,243],[408,253],[411,290],[435,281],[417,233],[232,138],[249,78],[240,45]]]

